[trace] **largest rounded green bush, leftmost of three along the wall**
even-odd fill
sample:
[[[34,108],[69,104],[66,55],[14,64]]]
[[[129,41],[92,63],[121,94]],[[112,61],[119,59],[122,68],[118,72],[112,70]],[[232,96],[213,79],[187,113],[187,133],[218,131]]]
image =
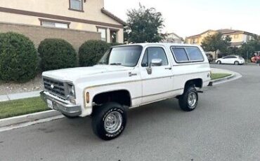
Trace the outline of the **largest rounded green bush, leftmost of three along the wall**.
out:
[[[26,82],[37,75],[37,50],[22,34],[0,34],[0,79]]]

